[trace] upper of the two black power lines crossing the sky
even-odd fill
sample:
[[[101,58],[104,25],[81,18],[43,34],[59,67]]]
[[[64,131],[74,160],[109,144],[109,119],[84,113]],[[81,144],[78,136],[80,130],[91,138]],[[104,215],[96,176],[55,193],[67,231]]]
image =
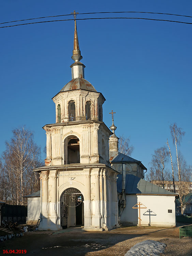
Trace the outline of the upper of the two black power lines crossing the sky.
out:
[[[173,13],[161,13],[161,12],[131,12],[131,11],[130,11],[130,12],[87,12],[87,13],[79,13],[78,15],[81,15],[81,14],[101,14],[101,13],[149,13],[149,14],[174,15],[174,16],[182,16],[182,17],[189,17],[189,18],[192,18],[192,16],[181,15],[181,14],[173,14]],[[10,22],[2,22],[2,23],[0,23],[0,24],[12,23],[12,22],[20,22],[20,21],[32,20],[32,19],[43,19],[43,18],[53,18],[53,17],[69,16],[69,15],[73,15],[73,14],[62,14],[62,15],[45,16],[45,17],[39,17],[39,18],[12,20],[12,21],[10,21]]]

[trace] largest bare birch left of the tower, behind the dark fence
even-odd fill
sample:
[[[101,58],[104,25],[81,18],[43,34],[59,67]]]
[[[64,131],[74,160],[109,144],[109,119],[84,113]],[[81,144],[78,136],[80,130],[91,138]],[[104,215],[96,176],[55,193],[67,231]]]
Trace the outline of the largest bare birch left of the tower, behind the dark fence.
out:
[[[14,129],[13,137],[6,142],[2,159],[11,202],[24,204],[24,196],[40,187],[38,174],[32,172],[42,166],[40,147],[34,142],[33,133],[25,127]]]

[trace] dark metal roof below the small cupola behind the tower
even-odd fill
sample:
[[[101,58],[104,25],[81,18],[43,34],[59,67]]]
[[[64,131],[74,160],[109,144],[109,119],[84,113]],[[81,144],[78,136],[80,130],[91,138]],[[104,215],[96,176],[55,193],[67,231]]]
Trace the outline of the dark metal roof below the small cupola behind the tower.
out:
[[[136,160],[130,156],[124,155],[120,152],[116,152],[116,151],[110,151],[109,152],[109,161],[110,162],[120,162],[120,163],[126,163],[126,162],[130,162],[130,163],[139,163],[144,170],[147,170],[147,168],[143,165],[143,163],[139,160]]]

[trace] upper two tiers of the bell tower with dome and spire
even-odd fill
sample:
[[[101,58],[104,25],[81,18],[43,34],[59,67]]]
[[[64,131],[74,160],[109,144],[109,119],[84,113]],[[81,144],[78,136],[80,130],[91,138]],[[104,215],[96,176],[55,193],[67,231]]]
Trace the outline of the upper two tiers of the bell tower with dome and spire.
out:
[[[82,58],[75,20],[74,63],[70,66],[72,80],[53,97],[56,123],[43,127],[47,134],[47,166],[69,163],[109,165],[108,138],[111,131],[103,123],[105,98],[85,80]],[[72,151],[75,151],[74,157]]]

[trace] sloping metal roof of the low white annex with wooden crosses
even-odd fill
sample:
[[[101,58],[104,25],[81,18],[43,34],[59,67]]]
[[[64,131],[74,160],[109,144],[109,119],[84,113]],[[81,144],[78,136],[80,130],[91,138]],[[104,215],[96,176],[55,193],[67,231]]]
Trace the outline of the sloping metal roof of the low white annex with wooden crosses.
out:
[[[127,174],[125,180],[126,194],[150,194],[150,195],[169,195],[177,196],[164,188],[156,186],[148,181],[145,181],[133,174]],[[118,174],[117,192],[122,191],[122,175]]]

